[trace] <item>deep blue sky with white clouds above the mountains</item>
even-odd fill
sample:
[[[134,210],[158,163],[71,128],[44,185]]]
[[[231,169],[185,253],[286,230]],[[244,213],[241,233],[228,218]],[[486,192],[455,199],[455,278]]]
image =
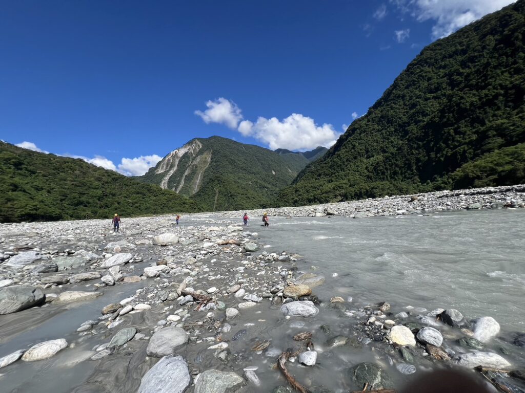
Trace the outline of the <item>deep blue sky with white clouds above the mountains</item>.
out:
[[[125,174],[195,137],[329,146],[424,46],[510,3],[4,2],[0,138]]]

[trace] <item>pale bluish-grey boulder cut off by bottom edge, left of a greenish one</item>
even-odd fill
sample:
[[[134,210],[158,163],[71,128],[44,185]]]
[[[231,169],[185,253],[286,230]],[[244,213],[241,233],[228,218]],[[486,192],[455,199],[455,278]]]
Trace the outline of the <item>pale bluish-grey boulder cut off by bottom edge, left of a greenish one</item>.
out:
[[[182,356],[165,356],[142,377],[138,393],[182,393],[190,382]]]

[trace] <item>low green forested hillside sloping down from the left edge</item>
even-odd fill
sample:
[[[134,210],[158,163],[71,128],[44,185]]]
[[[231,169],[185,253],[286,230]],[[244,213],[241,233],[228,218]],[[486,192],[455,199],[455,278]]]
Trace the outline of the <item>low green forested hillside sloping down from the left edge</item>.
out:
[[[0,142],[0,222],[195,212],[195,202],[82,161]]]

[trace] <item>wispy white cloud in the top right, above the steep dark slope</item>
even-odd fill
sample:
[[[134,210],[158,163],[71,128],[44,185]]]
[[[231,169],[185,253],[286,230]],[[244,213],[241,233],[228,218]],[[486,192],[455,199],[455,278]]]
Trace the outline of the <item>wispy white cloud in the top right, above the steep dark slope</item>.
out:
[[[432,38],[443,38],[484,15],[516,0],[390,0],[402,13],[418,21],[435,20]]]

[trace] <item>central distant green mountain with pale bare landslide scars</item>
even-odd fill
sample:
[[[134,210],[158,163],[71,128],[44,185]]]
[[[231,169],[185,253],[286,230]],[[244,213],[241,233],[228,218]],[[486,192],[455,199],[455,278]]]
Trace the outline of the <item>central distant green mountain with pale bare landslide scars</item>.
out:
[[[208,211],[255,209],[269,206],[308,162],[303,154],[212,136],[173,150],[138,179],[191,196]]]

